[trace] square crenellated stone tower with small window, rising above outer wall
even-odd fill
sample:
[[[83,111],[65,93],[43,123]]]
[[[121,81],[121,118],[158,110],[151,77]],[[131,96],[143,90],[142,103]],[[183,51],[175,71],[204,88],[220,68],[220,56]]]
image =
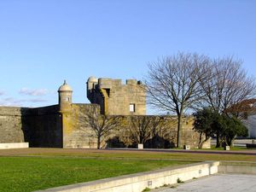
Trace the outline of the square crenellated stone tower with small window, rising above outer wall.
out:
[[[87,81],[87,98],[101,106],[101,113],[108,115],[145,115],[145,85],[136,79],[96,79]]]

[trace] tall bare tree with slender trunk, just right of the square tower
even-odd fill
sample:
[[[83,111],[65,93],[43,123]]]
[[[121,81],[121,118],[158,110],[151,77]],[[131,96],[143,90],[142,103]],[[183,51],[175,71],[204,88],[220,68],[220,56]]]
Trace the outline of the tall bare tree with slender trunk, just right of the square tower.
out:
[[[199,82],[206,77],[208,63],[205,55],[178,53],[148,64],[148,102],[177,114],[177,147],[180,146],[184,111],[201,100]]]

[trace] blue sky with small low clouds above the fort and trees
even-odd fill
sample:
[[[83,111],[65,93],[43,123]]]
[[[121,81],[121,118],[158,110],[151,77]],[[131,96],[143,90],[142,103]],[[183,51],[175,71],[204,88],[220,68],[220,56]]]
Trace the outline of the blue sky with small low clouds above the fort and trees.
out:
[[[57,103],[67,79],[88,102],[91,76],[143,79],[177,51],[234,55],[256,75],[256,1],[1,0],[0,105]]]

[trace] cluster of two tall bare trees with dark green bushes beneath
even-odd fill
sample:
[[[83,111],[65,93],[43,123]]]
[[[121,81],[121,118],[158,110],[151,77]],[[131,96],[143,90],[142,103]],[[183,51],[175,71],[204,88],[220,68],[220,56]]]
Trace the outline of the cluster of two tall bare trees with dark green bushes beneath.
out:
[[[177,114],[177,147],[186,111],[195,112],[195,131],[206,139],[217,137],[216,147],[247,135],[240,120],[255,113],[256,86],[241,64],[232,56],[212,59],[196,53],[178,53],[148,64],[149,104]]]

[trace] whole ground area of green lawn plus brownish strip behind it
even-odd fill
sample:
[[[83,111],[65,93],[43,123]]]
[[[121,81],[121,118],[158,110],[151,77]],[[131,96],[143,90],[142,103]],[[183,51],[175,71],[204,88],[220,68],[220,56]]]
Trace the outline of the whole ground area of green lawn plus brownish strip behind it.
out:
[[[63,148],[0,150],[0,191],[33,191],[204,160],[255,161],[256,155]]]

